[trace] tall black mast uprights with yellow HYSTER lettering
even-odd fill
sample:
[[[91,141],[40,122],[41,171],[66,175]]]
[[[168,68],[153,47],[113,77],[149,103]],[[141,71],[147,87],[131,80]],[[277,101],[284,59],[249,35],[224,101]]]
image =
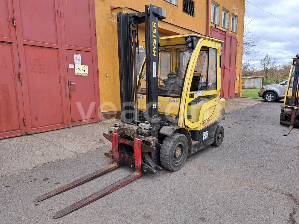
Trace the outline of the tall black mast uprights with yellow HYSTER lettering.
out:
[[[145,23],[146,119],[152,127],[151,136],[153,137],[158,136],[160,129],[160,119],[158,119],[158,47],[160,42],[158,20],[165,18],[166,11],[154,5],[146,5],[143,13],[119,12],[117,14],[121,121],[137,124],[139,119],[136,48],[139,47],[138,26],[140,23]]]

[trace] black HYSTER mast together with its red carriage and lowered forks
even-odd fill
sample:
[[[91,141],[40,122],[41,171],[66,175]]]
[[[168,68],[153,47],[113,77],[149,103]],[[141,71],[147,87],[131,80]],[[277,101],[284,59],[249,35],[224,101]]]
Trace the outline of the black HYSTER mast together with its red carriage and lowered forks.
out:
[[[90,196],[68,206],[56,214],[54,218],[60,218],[76,211],[85,205],[110,194],[118,188],[141,177],[142,171],[155,174],[156,170],[161,171],[161,167],[154,162],[158,160],[155,140],[158,137],[160,120],[158,119],[158,20],[165,19],[166,12],[160,7],[146,5],[144,13],[122,13],[117,14],[118,19],[118,56],[119,56],[119,73],[120,73],[120,100],[122,123],[131,125],[129,129],[131,139],[126,139],[118,133],[104,134],[106,139],[112,142],[112,150],[105,153],[106,157],[113,159],[113,163],[98,171],[77,179],[60,188],[50,191],[34,199],[35,202],[45,200],[62,192],[68,191],[79,185],[82,185],[96,177],[106,174],[109,171],[118,168],[120,164],[129,165],[135,168],[135,172],[123,179],[91,194]],[[147,122],[151,127],[151,136],[147,137],[151,145],[142,143],[134,131],[138,126],[138,105],[137,105],[137,73],[136,73],[136,48],[139,47],[138,24],[145,22],[146,34],[146,72],[147,72]],[[133,29],[134,28],[134,29]],[[136,42],[137,38],[137,42]],[[146,125],[146,124],[145,124]],[[124,129],[123,129],[124,130]],[[126,129],[127,130],[127,129]],[[126,151],[129,148],[131,151]],[[149,156],[151,153],[151,157]],[[130,154],[130,156],[128,156]],[[143,157],[142,158],[142,154]],[[155,158],[155,159],[154,159]],[[144,161],[143,161],[144,160]],[[154,161],[154,162],[153,162]]]

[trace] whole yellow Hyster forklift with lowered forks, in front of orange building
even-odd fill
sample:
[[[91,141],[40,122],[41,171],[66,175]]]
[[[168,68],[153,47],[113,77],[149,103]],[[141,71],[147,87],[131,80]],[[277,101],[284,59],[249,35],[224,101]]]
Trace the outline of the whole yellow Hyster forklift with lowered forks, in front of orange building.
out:
[[[223,41],[199,34],[160,38],[158,20],[166,12],[154,5],[143,13],[117,14],[121,122],[108,128],[112,142],[105,156],[113,163],[34,201],[45,200],[118,168],[135,172],[54,214],[62,217],[162,167],[179,170],[191,155],[220,146],[225,100],[220,97]],[[146,56],[136,71],[138,25],[145,23]],[[138,52],[137,52],[138,53]]]

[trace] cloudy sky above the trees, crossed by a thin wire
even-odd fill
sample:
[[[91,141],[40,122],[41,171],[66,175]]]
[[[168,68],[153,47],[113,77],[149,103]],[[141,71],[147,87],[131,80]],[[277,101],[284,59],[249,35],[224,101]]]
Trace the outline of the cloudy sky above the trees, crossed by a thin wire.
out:
[[[298,27],[277,19],[252,4]],[[283,64],[299,54],[298,0],[246,0],[245,7],[245,18],[248,16],[253,18],[250,24],[254,25],[252,31],[256,32],[256,35],[265,33],[261,46],[263,52],[258,54],[259,58],[269,53],[276,57],[279,64]],[[257,63],[258,60],[254,62]]]

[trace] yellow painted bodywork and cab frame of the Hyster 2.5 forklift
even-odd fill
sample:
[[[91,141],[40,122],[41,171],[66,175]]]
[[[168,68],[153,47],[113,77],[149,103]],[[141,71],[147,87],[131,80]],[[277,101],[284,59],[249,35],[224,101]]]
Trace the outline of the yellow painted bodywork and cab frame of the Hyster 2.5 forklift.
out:
[[[183,45],[185,44],[186,37],[198,37],[199,40],[196,44],[195,49],[193,50],[189,65],[187,66],[187,70],[184,75],[184,84],[181,86],[181,97],[175,96],[158,96],[158,113],[164,114],[166,117],[171,117],[176,125],[179,127],[185,127],[188,130],[201,130],[207,125],[215,122],[217,119],[222,118],[224,116],[224,108],[225,108],[225,99],[220,98],[220,86],[221,86],[221,66],[219,65],[220,55],[221,55],[221,47],[222,41],[213,39],[208,36],[202,36],[198,34],[185,34],[185,35],[176,35],[176,36],[168,36],[161,38],[160,47],[166,47],[166,53],[169,53],[169,58],[172,61],[173,70],[178,70],[178,58],[179,58],[179,50],[170,50],[173,45]],[[212,76],[216,76],[216,86],[213,86],[213,90],[204,90],[204,91],[192,91],[191,84],[194,78],[198,78],[200,82],[202,82],[202,74],[205,71],[195,71],[195,67],[198,66],[200,62],[198,62],[198,56],[202,49],[215,49],[213,52],[216,52],[216,67],[214,68],[214,73],[209,74],[208,66],[206,70],[206,82],[212,78]],[[210,55],[210,54],[209,54]],[[159,63],[160,63],[159,53]],[[210,56],[209,56],[210,57]],[[208,59],[210,60],[210,59]],[[215,60],[215,59],[214,59]],[[143,61],[143,64],[145,60]],[[141,70],[139,71],[139,76],[144,77],[145,66],[141,66]],[[161,75],[163,71],[159,69],[159,75]],[[216,74],[216,75],[215,75]],[[165,75],[164,75],[165,76]],[[196,76],[201,76],[196,77]],[[160,77],[160,76],[158,76]],[[159,79],[158,79],[159,80]],[[215,81],[215,80],[214,80]],[[146,87],[146,82],[144,80],[138,81],[140,82],[141,89]],[[161,85],[161,79],[158,81],[158,86]],[[210,82],[212,83],[212,82]],[[214,83],[214,82],[213,82]],[[213,84],[211,84],[212,86]],[[138,108],[140,111],[146,111],[146,94],[141,94],[138,92]]]

